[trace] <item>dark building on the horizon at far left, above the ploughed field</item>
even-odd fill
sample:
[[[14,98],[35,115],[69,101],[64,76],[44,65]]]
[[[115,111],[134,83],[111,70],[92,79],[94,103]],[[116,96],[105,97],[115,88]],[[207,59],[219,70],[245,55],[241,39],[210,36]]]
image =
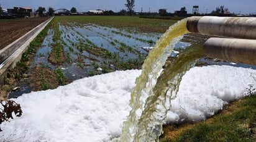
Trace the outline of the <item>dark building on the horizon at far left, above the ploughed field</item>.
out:
[[[15,15],[16,17],[34,17],[34,12],[30,7],[14,7],[13,9],[7,9],[7,14]]]

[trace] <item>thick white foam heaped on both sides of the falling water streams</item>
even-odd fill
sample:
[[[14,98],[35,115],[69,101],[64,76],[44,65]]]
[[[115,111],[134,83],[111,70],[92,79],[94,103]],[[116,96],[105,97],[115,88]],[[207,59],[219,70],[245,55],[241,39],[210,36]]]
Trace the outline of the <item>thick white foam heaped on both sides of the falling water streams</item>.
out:
[[[118,137],[140,73],[116,71],[82,78],[55,90],[22,94],[14,101],[21,104],[23,114],[1,124],[0,141],[93,142]],[[167,122],[211,117],[228,102],[244,97],[248,85],[256,85],[255,78],[256,70],[242,67],[194,67],[181,80]]]

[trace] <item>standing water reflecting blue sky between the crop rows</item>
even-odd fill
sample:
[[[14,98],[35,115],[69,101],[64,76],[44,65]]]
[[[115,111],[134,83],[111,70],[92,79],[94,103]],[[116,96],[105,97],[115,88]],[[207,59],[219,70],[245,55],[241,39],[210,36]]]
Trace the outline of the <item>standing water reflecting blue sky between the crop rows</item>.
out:
[[[35,59],[31,63],[33,67],[45,67],[52,72],[62,69],[66,77],[70,80],[77,80],[91,75],[113,72],[114,70],[125,70],[119,64],[126,62],[144,61],[149,48],[155,45],[155,41],[160,37],[160,33],[139,33],[133,30],[119,30],[111,27],[101,27],[99,25],[80,25],[75,23],[64,25],[59,23],[61,31],[61,44],[65,51],[66,62],[61,65],[54,65],[48,62],[48,57],[54,46],[53,36],[56,29],[50,28],[48,35],[35,54]],[[179,42],[176,49],[183,49],[190,46],[190,43]],[[96,48],[108,51],[110,57],[106,57],[104,52],[88,51],[83,48]],[[177,53],[173,53],[175,57]],[[116,64],[118,63],[118,64]],[[140,69],[140,65],[127,67],[127,69]],[[32,88],[23,83],[19,91],[13,91],[9,97],[17,97],[22,93],[29,93]]]

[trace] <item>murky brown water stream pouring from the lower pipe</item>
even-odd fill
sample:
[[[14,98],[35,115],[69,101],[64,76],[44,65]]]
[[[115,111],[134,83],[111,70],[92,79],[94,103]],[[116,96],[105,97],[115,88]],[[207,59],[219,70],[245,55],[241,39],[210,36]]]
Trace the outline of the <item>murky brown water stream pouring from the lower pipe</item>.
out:
[[[191,46],[163,70],[157,84],[149,92],[145,109],[137,124],[134,141],[158,141],[162,134],[163,120],[171,107],[171,98],[176,97],[181,78],[200,57],[203,57],[203,48]]]

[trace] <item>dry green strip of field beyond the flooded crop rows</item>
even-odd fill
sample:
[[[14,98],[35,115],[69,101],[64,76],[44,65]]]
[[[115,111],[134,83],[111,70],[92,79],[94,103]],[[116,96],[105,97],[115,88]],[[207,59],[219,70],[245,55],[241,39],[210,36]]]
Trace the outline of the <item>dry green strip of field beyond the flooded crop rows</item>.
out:
[[[57,16],[63,22],[94,23],[115,28],[134,28],[140,31],[164,33],[177,20],[144,19],[136,16]]]

